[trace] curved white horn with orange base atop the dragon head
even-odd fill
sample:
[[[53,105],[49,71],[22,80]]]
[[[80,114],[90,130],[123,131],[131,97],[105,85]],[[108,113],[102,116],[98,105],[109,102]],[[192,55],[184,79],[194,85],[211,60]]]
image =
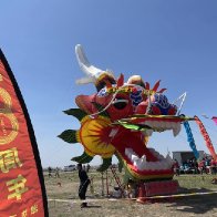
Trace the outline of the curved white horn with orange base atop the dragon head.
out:
[[[105,86],[102,85],[103,80],[107,80],[112,84],[115,83],[115,79],[111,71],[103,71],[89,62],[81,44],[75,45],[75,54],[81,70],[86,74],[85,78],[76,80],[78,84],[94,83],[96,89],[101,90]]]

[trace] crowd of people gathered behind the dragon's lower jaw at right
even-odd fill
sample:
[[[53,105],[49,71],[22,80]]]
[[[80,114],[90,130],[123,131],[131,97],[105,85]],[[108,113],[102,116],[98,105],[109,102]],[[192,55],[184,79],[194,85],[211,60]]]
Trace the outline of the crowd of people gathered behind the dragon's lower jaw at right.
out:
[[[217,162],[210,157],[205,156],[200,161],[196,158],[187,159],[179,165],[177,159],[174,161],[174,173],[179,174],[217,174]]]

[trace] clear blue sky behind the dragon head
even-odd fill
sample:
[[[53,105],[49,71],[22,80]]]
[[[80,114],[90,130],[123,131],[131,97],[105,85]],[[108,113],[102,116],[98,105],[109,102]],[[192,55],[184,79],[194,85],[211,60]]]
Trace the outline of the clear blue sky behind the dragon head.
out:
[[[187,91],[186,115],[202,117],[215,148],[217,126],[202,116],[217,115],[217,2],[215,0],[20,0],[1,1],[0,46],[17,78],[34,127],[43,166],[71,164],[79,144],[59,140],[79,122],[62,113],[75,107],[83,76],[74,54],[81,43],[90,61],[125,79],[141,74],[152,85],[162,80],[170,101]],[[198,149],[207,152],[190,123]],[[185,131],[154,134],[151,146],[189,151]],[[96,157],[93,164],[99,164]]]

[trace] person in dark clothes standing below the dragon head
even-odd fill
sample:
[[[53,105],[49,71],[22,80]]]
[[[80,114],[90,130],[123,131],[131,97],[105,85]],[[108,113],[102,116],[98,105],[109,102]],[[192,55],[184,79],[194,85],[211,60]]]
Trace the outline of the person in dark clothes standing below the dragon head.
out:
[[[86,199],[86,189],[89,187],[89,184],[91,183],[86,172],[82,168],[82,164],[78,164],[76,166],[79,170],[79,178],[80,178],[80,186],[79,186],[79,197],[82,200]],[[87,207],[87,203],[83,202],[81,204],[81,207]]]

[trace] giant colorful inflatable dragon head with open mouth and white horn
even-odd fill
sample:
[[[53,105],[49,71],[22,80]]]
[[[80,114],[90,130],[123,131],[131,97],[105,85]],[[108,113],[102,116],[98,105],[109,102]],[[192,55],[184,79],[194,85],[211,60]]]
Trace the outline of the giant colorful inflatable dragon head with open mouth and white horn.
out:
[[[172,130],[174,136],[180,131],[185,116],[177,116],[177,106],[169,103],[159,82],[151,89],[140,75],[133,75],[124,83],[124,75],[115,79],[111,71],[103,71],[90,64],[82,46],[75,46],[79,64],[87,75],[80,84],[94,83],[97,92],[79,95],[79,108],[64,111],[81,122],[78,131],[66,130],[59,137],[68,143],[81,143],[84,153],[73,157],[78,163],[89,163],[101,155],[105,170],[116,155],[128,177],[134,180],[173,178],[173,161],[148,147],[153,132]]]

